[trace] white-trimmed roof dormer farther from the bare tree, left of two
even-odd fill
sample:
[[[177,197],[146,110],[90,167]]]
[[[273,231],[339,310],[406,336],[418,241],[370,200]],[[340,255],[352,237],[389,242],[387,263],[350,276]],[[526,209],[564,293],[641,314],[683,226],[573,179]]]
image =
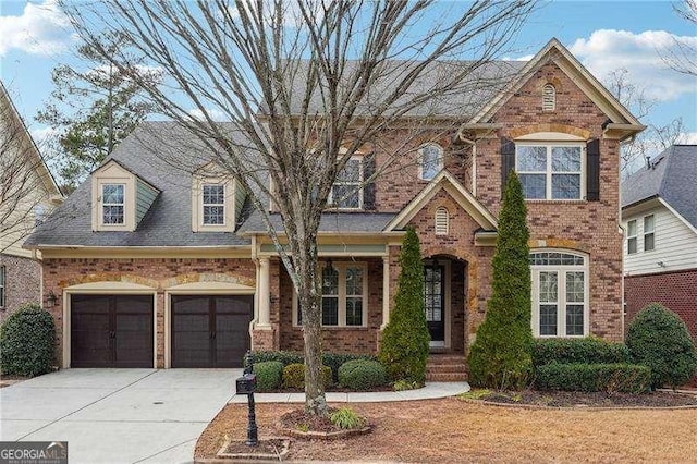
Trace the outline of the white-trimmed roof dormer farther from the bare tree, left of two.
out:
[[[160,191],[114,160],[91,173],[91,230],[133,232]]]

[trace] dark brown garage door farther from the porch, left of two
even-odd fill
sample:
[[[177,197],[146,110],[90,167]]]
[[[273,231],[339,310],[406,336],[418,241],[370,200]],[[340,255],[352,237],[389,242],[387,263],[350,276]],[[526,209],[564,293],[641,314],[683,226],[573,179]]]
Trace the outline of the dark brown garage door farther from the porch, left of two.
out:
[[[152,295],[71,295],[72,367],[152,367]]]

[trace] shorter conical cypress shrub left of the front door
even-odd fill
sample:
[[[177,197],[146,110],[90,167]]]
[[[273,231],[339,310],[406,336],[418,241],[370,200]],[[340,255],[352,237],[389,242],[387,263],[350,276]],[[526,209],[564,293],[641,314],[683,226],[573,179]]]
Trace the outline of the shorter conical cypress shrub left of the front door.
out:
[[[380,363],[392,380],[424,383],[430,335],[424,313],[424,262],[418,236],[406,230],[400,280],[390,322],[382,332]]]

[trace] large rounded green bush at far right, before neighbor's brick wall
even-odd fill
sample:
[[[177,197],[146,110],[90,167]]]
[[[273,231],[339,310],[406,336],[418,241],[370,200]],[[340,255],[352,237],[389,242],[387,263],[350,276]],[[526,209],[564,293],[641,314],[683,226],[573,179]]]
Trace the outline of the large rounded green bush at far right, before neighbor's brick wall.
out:
[[[651,303],[629,325],[632,361],[651,369],[651,388],[685,384],[697,373],[697,353],[685,322],[667,307]]]

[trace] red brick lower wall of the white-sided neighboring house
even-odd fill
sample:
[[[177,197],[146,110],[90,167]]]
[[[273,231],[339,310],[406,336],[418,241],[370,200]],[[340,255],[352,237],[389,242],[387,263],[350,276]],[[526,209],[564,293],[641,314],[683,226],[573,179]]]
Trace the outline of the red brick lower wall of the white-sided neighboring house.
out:
[[[697,341],[697,269],[624,278],[626,327],[649,303],[677,314]]]

